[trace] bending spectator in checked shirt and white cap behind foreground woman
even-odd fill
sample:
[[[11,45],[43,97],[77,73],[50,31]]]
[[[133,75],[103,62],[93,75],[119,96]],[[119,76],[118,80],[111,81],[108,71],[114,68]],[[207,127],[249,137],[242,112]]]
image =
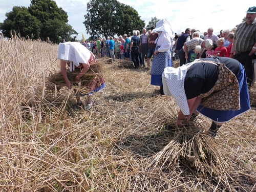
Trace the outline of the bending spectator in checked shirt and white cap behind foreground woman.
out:
[[[202,47],[199,55],[197,56],[197,58],[200,58],[200,56],[204,52],[204,48],[207,49],[207,48],[212,46],[212,40],[211,39],[204,40],[200,37],[196,37],[196,38],[193,38],[189,41],[184,42],[184,46],[180,50],[180,55],[179,55],[181,60],[186,61],[186,59],[188,58],[188,52],[191,51],[191,50],[194,50],[196,48],[196,46],[201,46]],[[184,64],[185,63],[180,63],[180,66],[182,66]]]

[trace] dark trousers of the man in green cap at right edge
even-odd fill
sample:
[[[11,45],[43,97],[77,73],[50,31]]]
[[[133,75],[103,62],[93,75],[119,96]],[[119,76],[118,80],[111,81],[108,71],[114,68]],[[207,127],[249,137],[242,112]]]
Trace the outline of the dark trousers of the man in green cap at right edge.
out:
[[[241,62],[241,64],[244,66],[247,83],[248,86],[251,87],[251,83],[254,79],[254,63],[251,56],[248,54],[236,54],[234,55],[234,59]]]

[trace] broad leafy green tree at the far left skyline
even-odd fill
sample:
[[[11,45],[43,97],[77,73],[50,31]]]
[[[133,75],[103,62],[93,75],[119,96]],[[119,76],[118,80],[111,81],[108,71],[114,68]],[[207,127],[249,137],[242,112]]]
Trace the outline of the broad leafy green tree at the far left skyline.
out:
[[[59,42],[60,37],[71,39],[72,34],[78,34],[68,24],[68,14],[58,8],[52,0],[31,0],[28,8],[14,6],[12,11],[6,13],[4,23],[0,25],[3,34],[11,37],[10,31],[20,36],[31,36],[35,39]]]

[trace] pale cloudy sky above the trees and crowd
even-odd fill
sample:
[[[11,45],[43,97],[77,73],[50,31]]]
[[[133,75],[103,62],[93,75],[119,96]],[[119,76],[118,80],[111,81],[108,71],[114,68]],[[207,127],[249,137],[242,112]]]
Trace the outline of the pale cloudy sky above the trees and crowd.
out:
[[[86,28],[82,24],[87,13],[89,0],[56,0],[58,7],[62,7],[68,13],[69,24],[79,33],[78,39],[88,38]],[[180,34],[186,28],[199,29],[203,34],[209,27],[214,28],[214,33],[219,34],[221,29],[232,29],[242,22],[249,7],[256,6],[253,1],[244,0],[243,3],[234,1],[192,1],[192,0],[119,0],[120,3],[130,5],[145,20],[146,25],[151,17],[166,18],[175,32]],[[30,0],[0,0],[0,22],[3,22],[5,14],[10,12],[13,6],[30,5]],[[134,29],[141,30],[141,29]]]

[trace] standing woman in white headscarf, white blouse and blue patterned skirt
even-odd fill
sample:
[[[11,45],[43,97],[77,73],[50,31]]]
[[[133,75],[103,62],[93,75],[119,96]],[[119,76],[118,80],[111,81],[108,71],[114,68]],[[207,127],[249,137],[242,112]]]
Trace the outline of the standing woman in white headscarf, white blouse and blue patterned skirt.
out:
[[[165,18],[156,23],[156,28],[152,32],[159,32],[159,35],[155,40],[156,49],[152,62],[151,84],[160,86],[160,94],[153,94],[153,96],[161,96],[164,95],[162,73],[164,68],[172,66],[172,47],[175,33]]]

